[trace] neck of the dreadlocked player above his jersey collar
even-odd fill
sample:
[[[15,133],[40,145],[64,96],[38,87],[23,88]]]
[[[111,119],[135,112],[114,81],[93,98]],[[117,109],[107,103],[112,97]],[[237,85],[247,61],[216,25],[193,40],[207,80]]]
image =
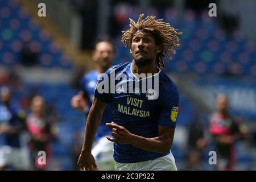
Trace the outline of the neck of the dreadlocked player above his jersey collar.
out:
[[[131,72],[133,73],[138,73],[139,75],[141,73],[151,73],[151,74],[155,74],[158,73],[158,69],[156,69],[155,64],[148,64],[148,65],[144,65],[144,66],[138,66],[135,61],[133,60],[133,62],[131,63]]]

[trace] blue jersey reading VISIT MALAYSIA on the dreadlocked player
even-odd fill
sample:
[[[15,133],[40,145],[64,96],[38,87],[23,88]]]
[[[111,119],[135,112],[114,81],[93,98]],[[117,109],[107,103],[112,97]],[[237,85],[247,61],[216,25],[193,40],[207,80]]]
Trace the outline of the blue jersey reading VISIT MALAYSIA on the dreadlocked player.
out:
[[[143,81],[147,82],[149,79],[152,85],[150,87],[147,84],[145,89]],[[102,92],[102,89],[105,91]],[[172,128],[176,126],[179,93],[174,82],[160,69],[151,77],[139,79],[131,72],[131,63],[115,65],[98,81],[95,97],[113,104],[114,123],[125,127],[132,134],[154,138],[159,136],[159,125]],[[169,153],[160,154],[131,144],[114,143],[114,160],[119,163],[143,162]]]

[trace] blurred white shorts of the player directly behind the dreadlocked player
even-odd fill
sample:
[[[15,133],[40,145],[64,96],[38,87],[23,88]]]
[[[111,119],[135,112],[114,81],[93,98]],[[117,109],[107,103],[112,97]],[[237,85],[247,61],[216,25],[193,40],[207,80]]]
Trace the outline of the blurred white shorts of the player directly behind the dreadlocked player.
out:
[[[92,148],[92,155],[96,160],[99,170],[113,171],[113,142],[110,142],[105,137],[100,138]]]

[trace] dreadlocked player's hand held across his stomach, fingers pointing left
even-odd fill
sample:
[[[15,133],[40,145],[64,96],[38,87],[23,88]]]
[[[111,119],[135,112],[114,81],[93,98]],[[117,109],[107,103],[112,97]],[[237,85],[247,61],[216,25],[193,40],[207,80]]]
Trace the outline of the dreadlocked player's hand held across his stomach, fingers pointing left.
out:
[[[106,123],[106,126],[112,127],[112,136],[113,138],[106,137],[111,142],[118,142],[122,144],[131,144],[133,141],[133,134],[123,126],[119,126],[114,122]]]

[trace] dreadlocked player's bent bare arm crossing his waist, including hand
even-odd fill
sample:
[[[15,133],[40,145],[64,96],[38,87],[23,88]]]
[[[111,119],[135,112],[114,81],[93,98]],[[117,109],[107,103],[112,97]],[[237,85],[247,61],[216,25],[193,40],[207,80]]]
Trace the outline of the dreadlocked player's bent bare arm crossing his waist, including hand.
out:
[[[174,128],[158,126],[159,136],[155,138],[145,138],[138,135],[131,134],[123,126],[116,125],[115,123],[106,123],[106,126],[112,127],[113,138],[106,137],[112,142],[122,144],[132,144],[135,147],[142,148],[143,150],[158,152],[166,154],[170,151],[172,142],[174,140]]]

